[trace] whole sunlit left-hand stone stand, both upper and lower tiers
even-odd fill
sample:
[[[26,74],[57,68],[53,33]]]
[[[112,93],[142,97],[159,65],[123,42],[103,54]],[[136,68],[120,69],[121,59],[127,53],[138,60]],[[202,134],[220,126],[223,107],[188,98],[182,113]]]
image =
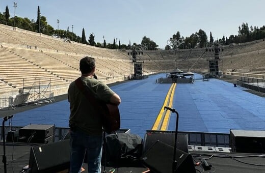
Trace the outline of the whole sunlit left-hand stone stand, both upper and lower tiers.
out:
[[[0,24],[0,93],[42,85],[67,86],[80,76],[79,62],[85,55],[96,59],[96,74],[107,80],[131,74],[129,57],[117,50],[66,43]]]

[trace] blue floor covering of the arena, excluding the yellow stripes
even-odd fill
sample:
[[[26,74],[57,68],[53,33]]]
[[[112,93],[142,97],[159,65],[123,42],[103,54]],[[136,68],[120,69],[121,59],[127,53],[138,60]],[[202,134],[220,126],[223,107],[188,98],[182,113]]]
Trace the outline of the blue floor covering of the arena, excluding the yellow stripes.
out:
[[[171,84],[155,83],[166,74],[131,80],[111,88],[122,103],[121,128],[144,136],[151,130]],[[173,106],[179,113],[179,131],[229,133],[230,129],[265,130],[265,98],[248,93],[245,88],[218,79],[202,81],[195,75],[193,84],[177,84]],[[67,100],[14,114],[13,126],[55,124],[68,127]],[[176,116],[171,114],[168,130],[175,130]]]

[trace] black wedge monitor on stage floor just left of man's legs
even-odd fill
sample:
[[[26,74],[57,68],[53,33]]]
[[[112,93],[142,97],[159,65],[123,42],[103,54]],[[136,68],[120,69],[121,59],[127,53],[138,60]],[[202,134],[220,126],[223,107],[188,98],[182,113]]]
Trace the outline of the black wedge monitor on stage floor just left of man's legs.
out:
[[[69,140],[32,147],[30,151],[29,172],[68,172],[70,168]]]

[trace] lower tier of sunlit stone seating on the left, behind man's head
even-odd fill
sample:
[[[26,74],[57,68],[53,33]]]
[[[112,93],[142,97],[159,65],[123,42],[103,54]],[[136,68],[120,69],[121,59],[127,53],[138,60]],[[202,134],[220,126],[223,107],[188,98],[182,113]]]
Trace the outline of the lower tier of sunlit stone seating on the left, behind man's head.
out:
[[[80,76],[79,61],[83,56],[1,47],[0,57],[2,83],[8,83],[5,86],[10,88],[22,88],[31,86],[36,78],[46,84],[51,81],[52,85],[75,80]],[[128,61],[97,58],[96,62],[99,79],[130,74]]]

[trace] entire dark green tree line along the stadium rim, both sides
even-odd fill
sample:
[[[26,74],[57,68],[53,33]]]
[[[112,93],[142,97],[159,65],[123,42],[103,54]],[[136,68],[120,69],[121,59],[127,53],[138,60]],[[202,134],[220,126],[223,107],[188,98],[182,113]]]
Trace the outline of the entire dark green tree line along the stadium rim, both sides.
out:
[[[18,27],[23,30],[28,30],[32,32],[42,33],[48,36],[58,37],[58,38],[68,38],[71,41],[75,41],[78,43],[88,44],[91,46],[96,47],[103,47],[103,48],[109,48],[109,49],[141,49],[141,50],[157,50],[158,45],[152,41],[150,38],[144,36],[142,38],[141,44],[133,43],[133,45],[130,44],[121,44],[119,43],[117,38],[113,39],[113,43],[106,43],[104,40],[103,43],[95,42],[95,35],[93,33],[90,34],[89,39],[86,39],[86,33],[85,29],[82,30],[82,36],[77,36],[73,31],[71,32],[69,30],[69,26],[67,27],[67,30],[59,30],[59,28],[56,30],[54,27],[49,25],[46,21],[45,16],[40,16],[40,7],[38,6],[37,9],[37,20],[29,19],[27,17],[12,17],[10,18],[10,13],[8,6],[6,6],[6,11],[2,14],[0,13],[0,23],[10,25],[13,27]],[[59,20],[58,20],[59,25]],[[73,27],[73,25],[72,25]],[[183,37],[180,35],[180,32],[177,31],[176,34],[173,34],[169,40],[182,40],[183,44],[181,44],[178,48],[179,49],[190,49],[190,48],[202,48],[202,47],[210,47],[213,46],[215,43],[219,43],[222,45],[229,45],[232,43],[244,43],[259,39],[265,39],[265,25],[258,28],[257,26],[248,26],[248,23],[242,23],[241,26],[239,26],[238,35],[230,35],[228,38],[223,36],[222,39],[215,40],[213,39],[213,36],[210,32],[210,37],[208,40],[208,37],[206,33],[203,30],[199,30],[196,33],[193,33],[190,37]],[[172,47],[170,45],[167,45],[165,47],[166,50],[171,49]]]

